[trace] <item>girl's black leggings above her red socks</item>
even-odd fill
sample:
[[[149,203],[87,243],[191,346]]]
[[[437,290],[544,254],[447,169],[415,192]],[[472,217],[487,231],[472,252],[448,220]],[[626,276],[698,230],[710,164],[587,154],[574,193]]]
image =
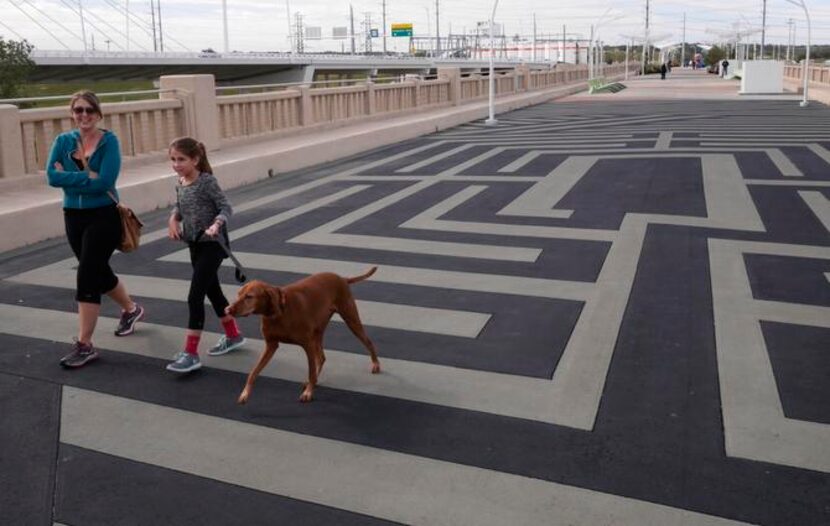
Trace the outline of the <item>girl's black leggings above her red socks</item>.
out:
[[[205,326],[205,296],[210,299],[213,312],[218,317],[225,315],[228,300],[219,285],[219,266],[225,258],[225,251],[219,243],[208,241],[190,244],[190,263],[193,265],[193,277],[190,279],[190,293],[187,306],[190,318],[187,328],[200,331]]]

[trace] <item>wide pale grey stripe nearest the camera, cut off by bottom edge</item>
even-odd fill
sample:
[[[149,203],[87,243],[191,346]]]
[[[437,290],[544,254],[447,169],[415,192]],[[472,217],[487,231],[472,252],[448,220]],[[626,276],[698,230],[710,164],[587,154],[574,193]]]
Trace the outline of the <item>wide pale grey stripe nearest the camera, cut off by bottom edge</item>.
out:
[[[66,444],[133,461],[412,525],[535,526],[550,524],[552,517],[561,524],[586,525],[739,524],[73,387],[63,388],[60,437]]]

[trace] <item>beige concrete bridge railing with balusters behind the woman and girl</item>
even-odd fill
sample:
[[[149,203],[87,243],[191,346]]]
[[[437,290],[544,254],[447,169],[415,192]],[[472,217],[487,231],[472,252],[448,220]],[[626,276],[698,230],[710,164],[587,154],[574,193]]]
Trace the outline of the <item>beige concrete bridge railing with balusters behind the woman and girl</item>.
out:
[[[624,72],[609,66],[608,76]],[[498,73],[496,95],[577,84],[588,77],[586,66],[532,71],[519,65]],[[315,126],[343,125],[384,114],[401,114],[485,99],[489,80],[464,77],[457,67],[438,69],[437,77],[407,75],[397,82],[365,82],[339,87],[309,84],[268,85],[260,93],[217,95],[212,75],[161,77],[158,99],[105,103],[103,127],[119,137],[125,163],[160,159],[175,137],[192,135],[208,149],[258,137],[278,137]],[[67,97],[68,100],[68,97]],[[0,179],[44,169],[54,138],[71,129],[63,108],[18,109],[0,104]]]

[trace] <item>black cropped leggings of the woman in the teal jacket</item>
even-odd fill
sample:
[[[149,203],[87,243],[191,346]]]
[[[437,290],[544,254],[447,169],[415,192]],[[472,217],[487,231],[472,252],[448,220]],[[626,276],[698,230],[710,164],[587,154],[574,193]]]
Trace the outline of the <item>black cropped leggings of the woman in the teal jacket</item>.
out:
[[[101,304],[101,295],[118,285],[110,257],[121,242],[121,216],[115,205],[64,208],[66,238],[78,258],[75,300]]]

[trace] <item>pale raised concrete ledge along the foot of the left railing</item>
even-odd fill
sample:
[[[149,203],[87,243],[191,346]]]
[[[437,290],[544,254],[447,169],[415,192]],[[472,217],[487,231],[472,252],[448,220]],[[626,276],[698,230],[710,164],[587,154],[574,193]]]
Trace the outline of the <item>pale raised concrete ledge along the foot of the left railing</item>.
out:
[[[582,81],[554,89],[496,100],[497,113],[515,110],[586,89]],[[324,131],[268,139],[210,152],[210,163],[225,189],[334,161],[380,146],[452,128],[488,115],[487,100],[383,120],[363,121]],[[164,208],[173,200],[173,172],[163,153],[126,163],[118,181],[125,204],[138,213]],[[43,175],[0,180],[0,252],[63,234],[62,192],[46,185]],[[26,228],[20,228],[26,225]]]

